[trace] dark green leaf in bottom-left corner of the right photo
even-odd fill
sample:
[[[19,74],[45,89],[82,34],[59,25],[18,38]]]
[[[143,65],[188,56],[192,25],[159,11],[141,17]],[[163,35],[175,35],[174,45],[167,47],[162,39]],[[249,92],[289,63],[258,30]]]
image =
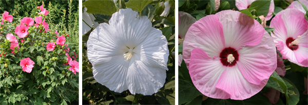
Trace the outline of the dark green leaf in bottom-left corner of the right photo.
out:
[[[191,81],[179,78],[179,104],[194,100],[197,96],[202,95]]]

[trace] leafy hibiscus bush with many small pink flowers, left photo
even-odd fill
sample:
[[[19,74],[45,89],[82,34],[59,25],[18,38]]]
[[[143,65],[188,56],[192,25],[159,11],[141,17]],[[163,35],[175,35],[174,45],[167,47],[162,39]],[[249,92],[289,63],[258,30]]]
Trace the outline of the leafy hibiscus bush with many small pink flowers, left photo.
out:
[[[1,15],[0,104],[78,103],[78,42],[49,28],[43,5],[34,9],[34,17]]]

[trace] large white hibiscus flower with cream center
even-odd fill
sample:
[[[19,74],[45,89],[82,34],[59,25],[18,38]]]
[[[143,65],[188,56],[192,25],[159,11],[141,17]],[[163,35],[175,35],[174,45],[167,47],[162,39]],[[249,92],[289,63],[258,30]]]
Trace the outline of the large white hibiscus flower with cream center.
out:
[[[88,39],[93,75],[114,92],[152,95],[163,87],[169,50],[162,32],[131,9],[112,14]]]

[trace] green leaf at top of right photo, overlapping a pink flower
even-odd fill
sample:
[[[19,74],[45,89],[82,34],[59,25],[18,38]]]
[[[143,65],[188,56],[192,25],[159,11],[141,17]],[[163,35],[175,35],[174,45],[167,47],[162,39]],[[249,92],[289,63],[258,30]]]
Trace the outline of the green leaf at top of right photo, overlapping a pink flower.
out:
[[[268,14],[270,4],[271,4],[270,0],[262,0],[262,1],[258,0],[253,2],[251,6],[249,6],[249,10],[250,11],[256,10],[258,16],[263,15],[264,17],[266,17]]]

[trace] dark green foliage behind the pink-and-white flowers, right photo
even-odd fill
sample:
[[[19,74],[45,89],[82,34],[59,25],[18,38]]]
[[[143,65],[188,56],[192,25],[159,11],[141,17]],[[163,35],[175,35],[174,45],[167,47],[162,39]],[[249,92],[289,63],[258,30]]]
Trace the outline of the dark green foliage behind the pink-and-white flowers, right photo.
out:
[[[194,16],[197,20],[206,15],[215,14],[222,10],[233,9],[238,11],[235,6],[235,1],[222,0],[217,11],[214,11],[214,3],[214,0],[180,0],[179,11],[187,12]],[[255,1],[248,9],[240,10],[240,12],[255,18],[259,23],[261,23],[261,20],[258,18],[258,16],[264,14],[266,15],[268,13],[269,4],[270,1]],[[288,5],[290,5],[290,3],[286,1],[280,0],[275,0],[274,4],[274,16],[281,10],[287,8]],[[266,22],[267,26],[269,26],[271,20]],[[265,31],[267,31],[269,34],[271,34],[270,32],[273,30],[274,28],[265,27]],[[179,45],[179,54],[182,54],[182,51],[183,44]],[[276,104],[307,104],[307,95],[302,93],[305,91],[304,77],[307,78],[308,68],[300,67],[288,61],[287,59],[284,59],[283,62],[286,69],[286,74],[284,77],[281,77],[276,72],[274,72],[261,92],[245,100],[232,100],[214,98],[203,99],[202,97],[204,97],[204,95],[201,94],[192,83],[186,64],[184,60],[182,60],[182,64],[179,64],[181,65],[181,67],[179,67],[179,104],[271,104],[269,103],[268,98],[262,94],[263,92],[267,92],[269,88],[273,88],[281,92],[280,98]]]

